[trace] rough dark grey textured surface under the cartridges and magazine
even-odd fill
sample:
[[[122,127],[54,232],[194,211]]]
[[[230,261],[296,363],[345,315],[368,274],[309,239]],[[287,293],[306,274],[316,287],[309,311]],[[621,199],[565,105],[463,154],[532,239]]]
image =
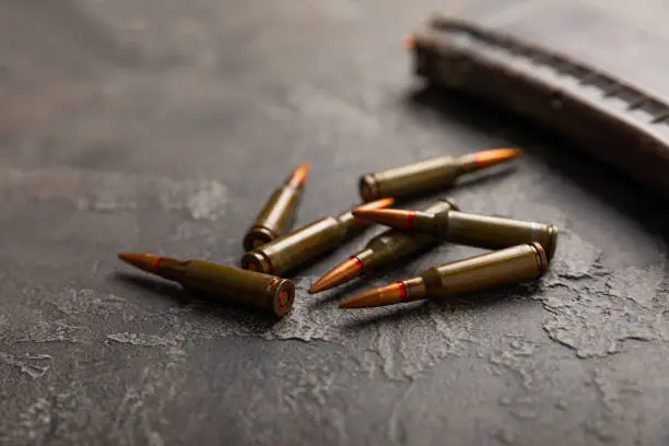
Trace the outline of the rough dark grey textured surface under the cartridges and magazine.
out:
[[[661,59],[620,59],[639,57],[620,33],[665,38],[660,3],[611,2],[588,34],[602,2],[0,0],[0,443],[669,444],[665,204],[554,136],[422,89],[401,47],[446,9],[661,87]],[[297,224],[359,202],[364,172],[507,144],[526,151],[513,168],[447,193],[556,223],[537,283],[338,308],[479,253],[443,245],[308,296],[371,228],[300,271],[277,322],[116,259],[236,265],[305,160]]]

